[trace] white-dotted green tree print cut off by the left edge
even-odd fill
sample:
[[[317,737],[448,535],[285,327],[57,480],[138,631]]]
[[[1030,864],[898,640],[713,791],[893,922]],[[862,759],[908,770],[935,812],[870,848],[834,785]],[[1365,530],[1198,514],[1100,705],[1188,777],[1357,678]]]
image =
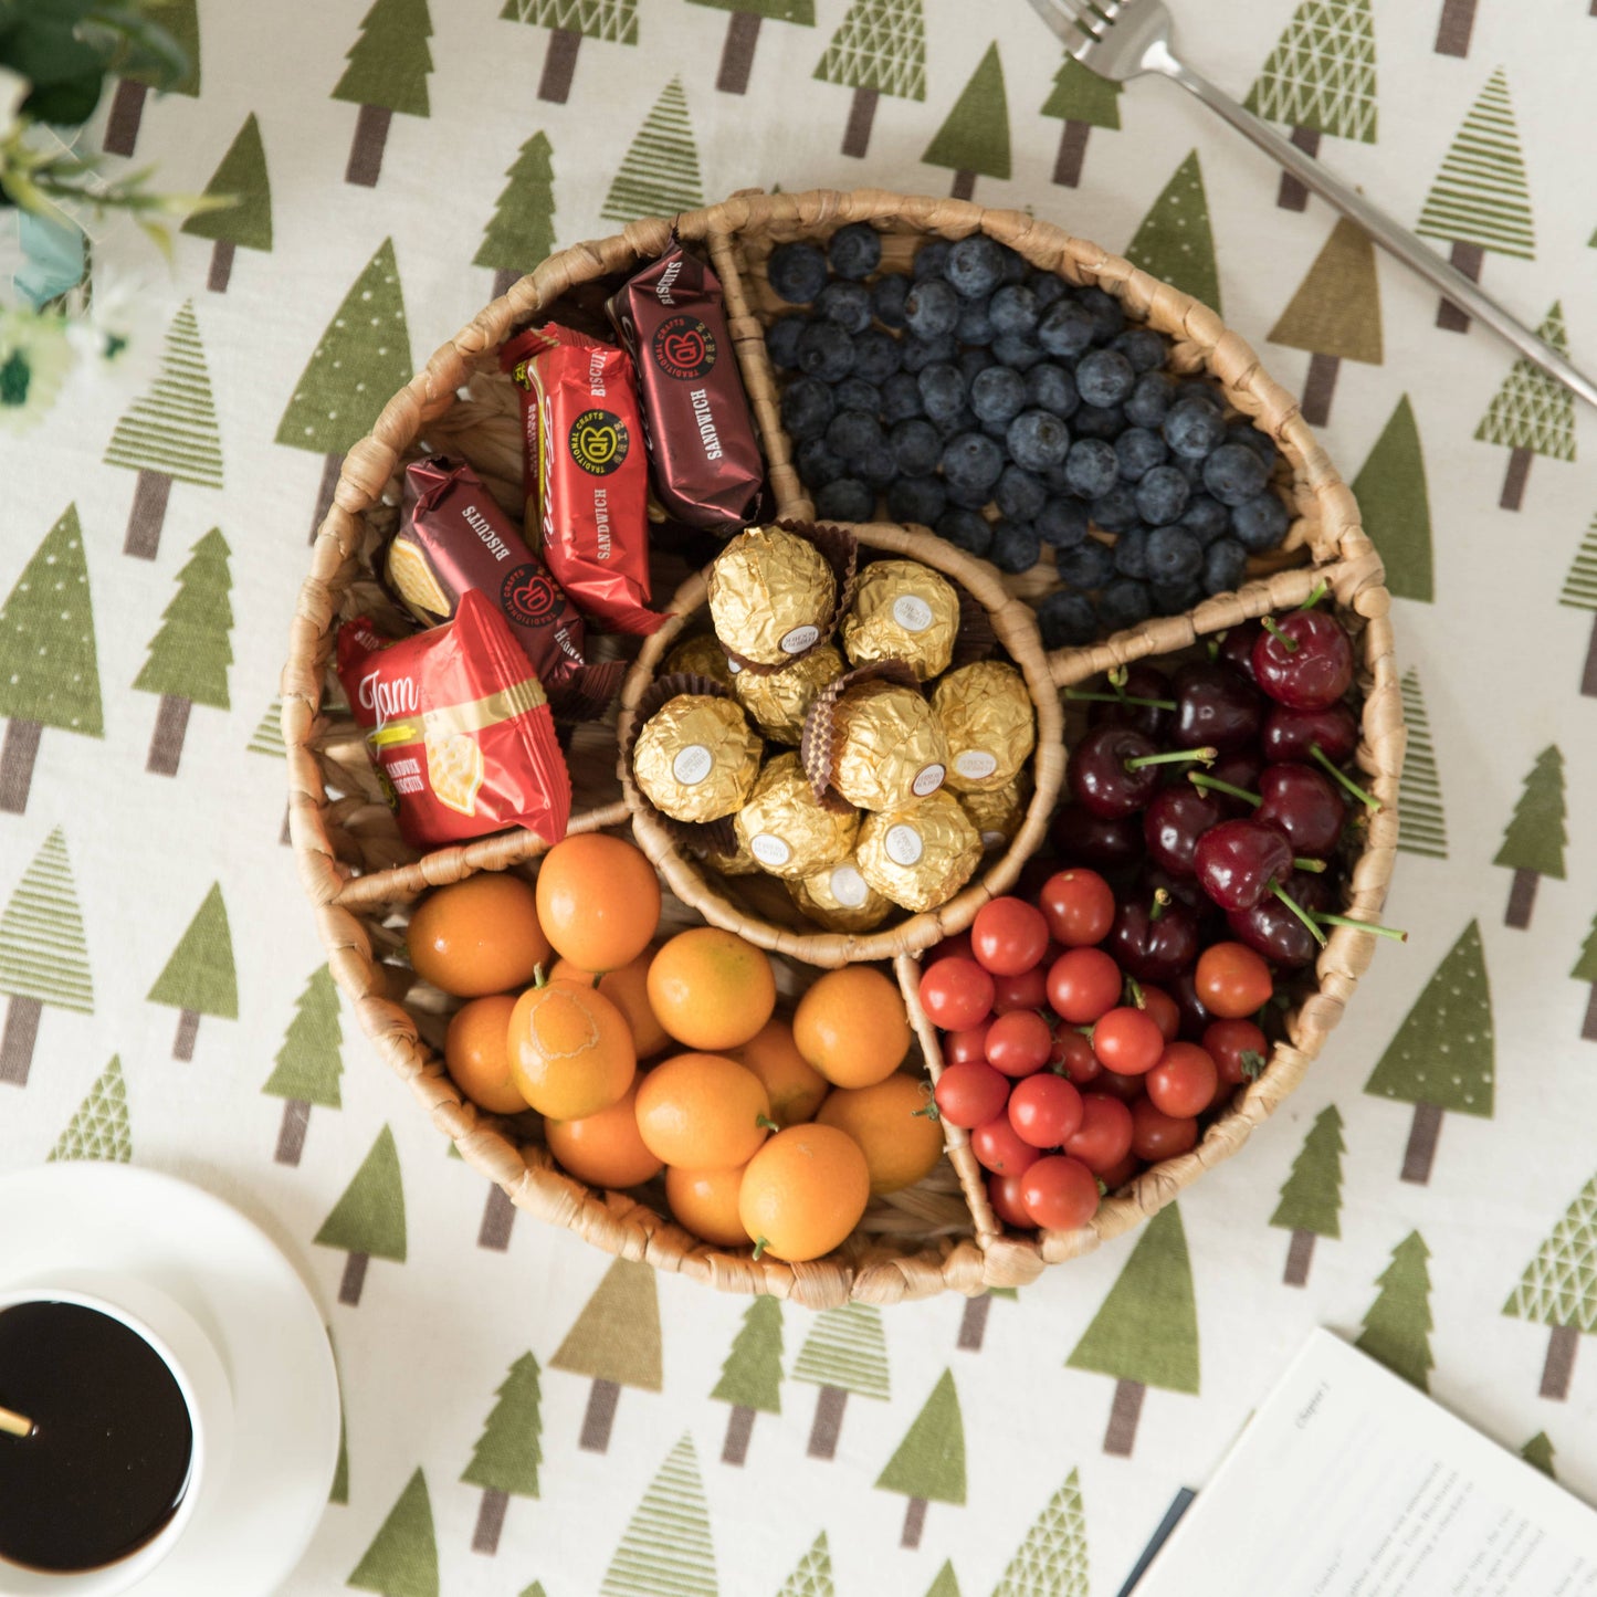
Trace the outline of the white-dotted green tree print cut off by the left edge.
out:
[[[45,533],[0,605],[0,814],[26,813],[45,727],[105,736],[77,505]]]

